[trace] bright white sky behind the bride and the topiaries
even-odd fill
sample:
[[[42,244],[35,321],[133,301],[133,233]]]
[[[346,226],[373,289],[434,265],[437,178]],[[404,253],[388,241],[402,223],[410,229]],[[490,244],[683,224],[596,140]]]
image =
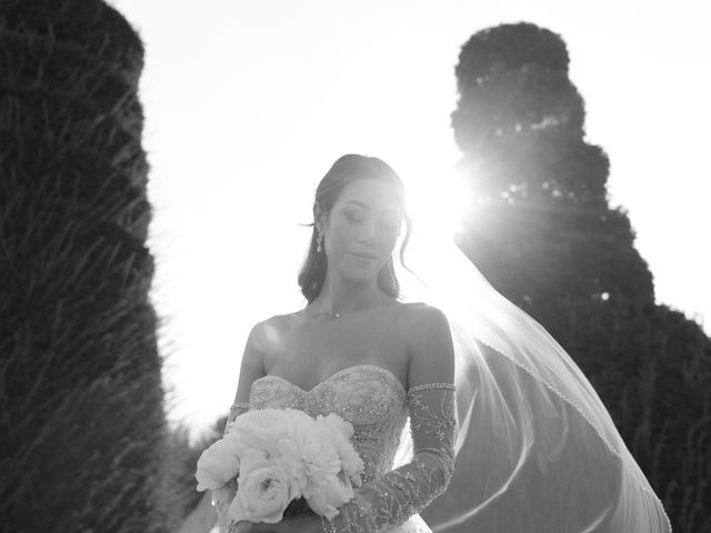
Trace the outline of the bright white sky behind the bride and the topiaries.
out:
[[[363,153],[431,200],[427,183],[451,177],[460,155],[449,119],[459,51],[500,23],[564,39],[587,140],[610,158],[610,201],[629,211],[657,300],[711,333],[703,2],[109,3],[146,46],[152,300],[170,418],[193,436],[232,403],[251,325],[302,303],[310,229],[299,224],[318,181],[339,155]]]

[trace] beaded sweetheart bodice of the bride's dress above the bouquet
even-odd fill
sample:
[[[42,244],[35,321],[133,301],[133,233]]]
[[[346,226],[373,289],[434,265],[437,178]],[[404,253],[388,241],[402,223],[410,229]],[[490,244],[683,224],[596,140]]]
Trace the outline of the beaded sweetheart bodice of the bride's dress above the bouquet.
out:
[[[363,482],[392,469],[408,416],[407,394],[390,371],[372,364],[349,366],[310,391],[267,375],[256,380],[250,409],[292,408],[311,416],[336,413],[353,425],[353,447],[365,470]]]

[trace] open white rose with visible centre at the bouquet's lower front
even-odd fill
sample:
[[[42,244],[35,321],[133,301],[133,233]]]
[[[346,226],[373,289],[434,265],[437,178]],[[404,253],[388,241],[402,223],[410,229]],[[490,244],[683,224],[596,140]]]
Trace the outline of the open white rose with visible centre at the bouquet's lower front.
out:
[[[258,453],[247,455],[228,515],[238,522],[280,522],[293,500],[289,475],[279,461],[268,461]]]

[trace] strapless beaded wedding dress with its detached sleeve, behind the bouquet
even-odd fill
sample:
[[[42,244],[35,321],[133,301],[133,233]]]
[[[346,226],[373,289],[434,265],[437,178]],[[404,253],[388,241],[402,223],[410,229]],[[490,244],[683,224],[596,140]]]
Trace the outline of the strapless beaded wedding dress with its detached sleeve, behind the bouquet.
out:
[[[291,408],[311,416],[337,413],[353,425],[352,443],[365,465],[363,486],[356,489],[354,501],[339,507],[333,531],[431,533],[418,511],[444,491],[452,474],[453,385],[430,383],[405,391],[390,371],[359,364],[309,391],[280,376],[260,378],[252,383],[249,405],[239,408],[233,416],[247,409]],[[392,470],[408,415],[414,454]]]

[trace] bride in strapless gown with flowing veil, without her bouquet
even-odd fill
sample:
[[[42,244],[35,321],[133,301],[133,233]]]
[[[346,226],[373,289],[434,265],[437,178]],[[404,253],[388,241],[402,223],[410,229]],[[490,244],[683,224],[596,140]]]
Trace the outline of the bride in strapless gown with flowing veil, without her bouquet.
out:
[[[580,370],[471,264],[428,245],[441,263],[401,294],[404,200],[377,158],[331,167],[299,274],[308,303],[253,326],[226,429],[250,409],[336,412],[354,428],[362,486],[332,521],[233,523],[216,502],[220,531],[670,531]]]

